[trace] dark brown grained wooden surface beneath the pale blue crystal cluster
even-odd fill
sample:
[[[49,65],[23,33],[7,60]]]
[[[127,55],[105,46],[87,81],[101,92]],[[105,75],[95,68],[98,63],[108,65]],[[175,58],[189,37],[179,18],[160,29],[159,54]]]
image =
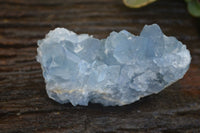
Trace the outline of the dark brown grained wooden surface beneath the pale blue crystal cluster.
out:
[[[61,105],[45,92],[37,40],[55,27],[103,38],[113,30],[139,34],[158,23],[187,44],[192,63],[183,79],[123,107]],[[183,0],[129,9],[121,0],[0,0],[0,133],[200,132],[200,21]]]

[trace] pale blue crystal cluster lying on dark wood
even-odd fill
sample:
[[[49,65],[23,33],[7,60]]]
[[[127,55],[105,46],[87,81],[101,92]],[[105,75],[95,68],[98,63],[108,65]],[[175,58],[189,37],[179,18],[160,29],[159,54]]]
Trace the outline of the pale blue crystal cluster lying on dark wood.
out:
[[[181,79],[191,61],[186,46],[157,24],[139,36],[122,30],[102,40],[56,28],[38,46],[49,97],[74,106],[130,104]]]

